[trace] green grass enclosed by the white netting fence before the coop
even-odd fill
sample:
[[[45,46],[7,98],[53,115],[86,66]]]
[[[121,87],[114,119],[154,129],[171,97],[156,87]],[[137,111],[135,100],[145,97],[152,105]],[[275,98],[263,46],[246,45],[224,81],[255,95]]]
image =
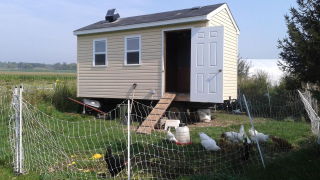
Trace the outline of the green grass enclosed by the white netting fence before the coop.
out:
[[[39,120],[30,119],[25,123],[25,153],[27,156],[32,157],[32,162],[26,163],[38,165],[31,169],[31,172],[39,171],[40,169],[48,171],[48,169],[53,168],[57,169],[56,173],[42,176],[49,178],[53,175],[61,176],[60,172],[68,172],[63,174],[63,177],[90,178],[95,177],[98,172],[106,171],[102,160],[90,159],[95,153],[104,154],[105,147],[112,147],[114,154],[119,154],[120,157],[126,158],[125,137],[127,137],[127,131],[125,127],[119,125],[119,119],[92,120],[90,116],[66,115],[55,110],[50,104],[39,104],[37,108],[50,116],[64,121],[52,120],[41,115],[41,113],[33,112],[33,114],[40,117]],[[256,148],[251,153],[254,158],[250,162],[237,160],[237,153],[225,156],[222,154],[223,152],[203,152],[198,135],[199,132],[204,132],[217,140],[222,132],[238,131],[239,124],[245,124],[247,130],[250,127],[246,116],[239,117],[220,113],[217,118],[226,123],[229,122],[227,124],[230,124],[231,121],[234,124],[227,127],[192,127],[190,132],[193,144],[188,146],[168,144],[165,141],[166,133],[164,132],[155,132],[149,136],[132,133],[131,157],[144,160],[143,164],[132,164],[134,176],[177,178],[177,174],[244,173],[250,169],[252,164],[259,163],[260,157]],[[302,145],[310,138],[310,125],[304,122],[282,122],[263,118],[254,119],[254,121],[257,130],[286,138],[297,150],[300,147],[304,147]],[[134,123],[133,126],[137,127],[138,123]],[[50,129],[51,131],[46,132],[43,129]],[[47,141],[41,141],[42,139],[47,139]],[[34,147],[42,148],[37,150]],[[64,153],[57,156],[54,152],[48,151],[47,148],[53,149],[55,152]],[[261,148],[267,158],[266,161],[273,162],[276,158],[281,158],[284,155],[275,151],[271,141],[261,144]],[[138,152],[144,153],[139,154]],[[71,158],[71,156],[74,157]],[[168,163],[168,159],[170,159],[170,167],[165,166]],[[187,161],[181,164],[181,160]],[[72,162],[76,162],[76,164],[70,167],[68,164]],[[261,164],[258,166],[261,166]],[[88,173],[83,173],[78,171],[80,168],[91,170]],[[141,171],[143,169],[149,169],[148,174],[146,174],[146,171]],[[155,173],[156,169],[162,169],[166,174]],[[124,172],[122,177],[125,177]]]

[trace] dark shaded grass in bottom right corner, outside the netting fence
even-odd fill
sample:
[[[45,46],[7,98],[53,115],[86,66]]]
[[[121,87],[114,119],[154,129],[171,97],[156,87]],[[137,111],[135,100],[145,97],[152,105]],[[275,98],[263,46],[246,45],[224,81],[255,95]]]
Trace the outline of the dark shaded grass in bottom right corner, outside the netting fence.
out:
[[[269,162],[266,169],[261,164],[251,165],[243,174],[200,175],[180,177],[179,180],[315,180],[320,176],[320,147],[312,146],[293,152],[287,156],[279,157]]]

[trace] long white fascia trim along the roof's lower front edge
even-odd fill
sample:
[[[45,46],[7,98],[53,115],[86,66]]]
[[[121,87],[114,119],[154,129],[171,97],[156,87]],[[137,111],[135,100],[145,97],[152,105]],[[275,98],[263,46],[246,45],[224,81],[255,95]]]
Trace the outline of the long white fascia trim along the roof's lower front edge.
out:
[[[173,20],[167,20],[167,21],[133,24],[133,25],[127,25],[127,26],[111,27],[111,28],[74,31],[73,35],[120,31],[120,30],[127,30],[127,29],[137,29],[137,28],[154,27],[154,26],[162,26],[162,25],[169,25],[169,24],[179,24],[179,23],[187,23],[187,22],[195,22],[195,21],[207,21],[207,20],[208,20],[207,15],[196,16],[196,17],[190,17],[190,18],[181,18],[181,19],[173,19]]]

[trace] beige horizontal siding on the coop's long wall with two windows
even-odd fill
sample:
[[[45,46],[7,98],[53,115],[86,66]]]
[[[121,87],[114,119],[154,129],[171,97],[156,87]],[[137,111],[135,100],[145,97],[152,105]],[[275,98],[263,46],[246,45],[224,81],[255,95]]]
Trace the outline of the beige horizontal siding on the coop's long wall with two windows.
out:
[[[128,31],[78,36],[78,96],[129,98],[132,84],[137,83],[136,99],[161,98],[162,30],[204,27],[206,22],[161,26]],[[124,38],[141,35],[141,66],[124,66]],[[108,67],[92,67],[93,39],[107,38]]]

